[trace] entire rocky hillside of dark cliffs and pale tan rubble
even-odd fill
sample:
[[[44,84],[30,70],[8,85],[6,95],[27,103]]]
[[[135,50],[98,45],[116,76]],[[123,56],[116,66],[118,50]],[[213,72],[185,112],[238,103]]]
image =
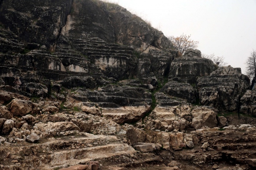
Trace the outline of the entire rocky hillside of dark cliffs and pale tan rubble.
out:
[[[249,84],[116,4],[1,0],[0,168],[253,169]]]

